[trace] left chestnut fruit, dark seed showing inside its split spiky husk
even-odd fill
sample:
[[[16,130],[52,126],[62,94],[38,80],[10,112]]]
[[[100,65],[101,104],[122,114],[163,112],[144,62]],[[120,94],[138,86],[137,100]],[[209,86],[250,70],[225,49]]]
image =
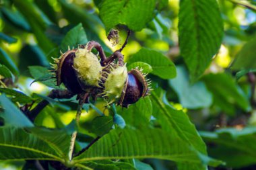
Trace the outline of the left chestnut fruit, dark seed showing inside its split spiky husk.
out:
[[[67,50],[59,58],[53,58],[57,85],[63,83],[72,93],[90,91],[100,87],[102,67],[98,57],[85,48]]]

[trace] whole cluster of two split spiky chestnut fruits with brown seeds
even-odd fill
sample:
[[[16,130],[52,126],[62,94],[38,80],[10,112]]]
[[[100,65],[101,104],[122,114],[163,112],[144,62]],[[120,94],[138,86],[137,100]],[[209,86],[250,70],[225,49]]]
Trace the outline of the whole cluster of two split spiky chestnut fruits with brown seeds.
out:
[[[98,56],[92,52],[95,48]],[[127,108],[141,97],[150,94],[149,80],[138,68],[127,71],[121,50],[106,57],[98,42],[67,50],[54,58],[57,85],[63,83],[74,94],[96,99],[103,97],[110,103]]]

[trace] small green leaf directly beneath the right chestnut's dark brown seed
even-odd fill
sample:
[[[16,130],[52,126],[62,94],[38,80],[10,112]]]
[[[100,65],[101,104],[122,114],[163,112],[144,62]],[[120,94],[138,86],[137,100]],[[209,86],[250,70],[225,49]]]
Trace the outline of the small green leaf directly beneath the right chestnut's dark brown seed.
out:
[[[125,123],[137,128],[146,126],[152,116],[152,103],[150,97],[139,99],[129,108],[119,108],[118,113],[124,118]]]

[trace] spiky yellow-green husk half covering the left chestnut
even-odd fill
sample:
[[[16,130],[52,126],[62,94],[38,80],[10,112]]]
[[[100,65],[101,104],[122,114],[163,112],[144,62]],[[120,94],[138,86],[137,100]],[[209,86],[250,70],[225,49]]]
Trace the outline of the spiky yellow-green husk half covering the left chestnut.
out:
[[[102,67],[98,57],[86,48],[79,48],[75,52],[74,69],[77,71],[79,80],[85,86],[100,87]]]

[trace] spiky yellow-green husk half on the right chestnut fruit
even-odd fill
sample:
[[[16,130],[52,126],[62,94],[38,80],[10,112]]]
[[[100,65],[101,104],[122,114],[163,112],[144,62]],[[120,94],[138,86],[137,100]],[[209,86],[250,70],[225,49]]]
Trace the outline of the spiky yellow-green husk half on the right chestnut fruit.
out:
[[[104,97],[108,99],[108,104],[119,101],[128,76],[126,65],[111,69],[104,83]]]

